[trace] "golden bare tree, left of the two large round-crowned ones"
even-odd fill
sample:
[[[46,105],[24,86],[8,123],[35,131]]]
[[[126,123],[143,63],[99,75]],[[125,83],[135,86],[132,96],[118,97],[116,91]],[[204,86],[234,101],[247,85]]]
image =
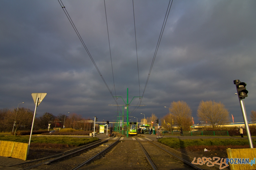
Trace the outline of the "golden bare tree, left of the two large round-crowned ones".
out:
[[[173,101],[170,105],[174,123],[187,130],[192,125],[192,111],[185,101]]]

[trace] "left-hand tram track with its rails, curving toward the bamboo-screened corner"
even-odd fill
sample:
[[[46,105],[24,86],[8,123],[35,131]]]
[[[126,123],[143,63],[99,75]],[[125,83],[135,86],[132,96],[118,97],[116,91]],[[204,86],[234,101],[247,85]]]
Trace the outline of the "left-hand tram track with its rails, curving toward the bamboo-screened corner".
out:
[[[56,167],[63,169],[71,169],[75,170],[78,169],[79,167],[89,163],[90,161],[97,159],[101,157],[103,154],[108,152],[115,144],[118,143],[120,138],[117,140],[101,140],[100,142],[94,142],[92,144],[88,144],[87,147],[79,149],[74,152],[70,152],[65,155],[58,156],[57,158],[53,159],[46,159],[43,162],[41,160],[43,159],[38,159],[35,161],[29,161],[21,164],[16,164],[12,166],[19,166],[23,167],[21,170],[26,170],[26,169],[32,169],[35,168],[40,170],[40,169],[56,169]],[[31,165],[30,164],[34,164]],[[60,164],[60,165],[59,165]]]

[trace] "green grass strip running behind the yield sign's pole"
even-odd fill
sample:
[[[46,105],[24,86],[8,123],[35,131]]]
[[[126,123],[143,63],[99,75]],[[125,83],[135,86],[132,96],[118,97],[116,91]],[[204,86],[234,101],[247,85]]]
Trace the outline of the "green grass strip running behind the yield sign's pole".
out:
[[[13,142],[21,142],[28,143],[29,136],[0,136],[0,140],[3,141],[13,141]],[[85,144],[92,143],[94,141],[98,141],[97,137],[90,138],[78,138],[78,137],[31,137],[31,143],[40,143],[40,144],[67,144],[68,146],[82,146]]]

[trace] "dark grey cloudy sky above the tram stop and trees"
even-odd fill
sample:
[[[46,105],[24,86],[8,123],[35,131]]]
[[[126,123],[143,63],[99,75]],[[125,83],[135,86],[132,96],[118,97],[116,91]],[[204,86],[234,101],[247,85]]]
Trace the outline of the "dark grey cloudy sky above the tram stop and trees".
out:
[[[47,93],[37,116],[70,112],[112,121],[123,109],[109,106],[116,105],[112,96],[126,102],[128,88],[129,102],[136,97],[131,105],[143,95],[146,106],[129,107],[138,120],[140,113],[161,118],[169,114],[164,106],[183,100],[198,123],[200,101],[214,100],[228,109],[230,122],[231,114],[243,122],[233,84],[240,79],[249,91],[250,121],[256,110],[256,1],[173,0],[159,48],[167,0],[106,0],[106,13],[103,0],[62,3],[92,58],[58,0],[0,1],[0,109],[25,102],[19,107],[34,111],[31,93]]]

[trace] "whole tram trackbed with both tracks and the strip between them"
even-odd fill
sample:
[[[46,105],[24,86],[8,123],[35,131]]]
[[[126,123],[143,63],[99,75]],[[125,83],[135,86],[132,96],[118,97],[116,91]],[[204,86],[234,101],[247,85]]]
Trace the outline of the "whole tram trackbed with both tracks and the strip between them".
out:
[[[117,137],[116,137],[117,136]],[[119,170],[120,167],[133,170],[165,170],[165,169],[215,169],[213,167],[196,167],[191,164],[191,157],[169,148],[166,145],[153,141],[143,136],[132,136],[132,140],[116,135],[84,146],[76,152],[58,156],[54,159],[39,160],[36,165],[16,166],[25,169],[111,169]],[[97,159],[100,158],[100,159]],[[95,160],[97,159],[97,160]],[[93,160],[93,161],[92,161]],[[91,163],[89,163],[91,162]],[[32,161],[31,161],[32,163]],[[36,167],[36,168],[34,168]]]

